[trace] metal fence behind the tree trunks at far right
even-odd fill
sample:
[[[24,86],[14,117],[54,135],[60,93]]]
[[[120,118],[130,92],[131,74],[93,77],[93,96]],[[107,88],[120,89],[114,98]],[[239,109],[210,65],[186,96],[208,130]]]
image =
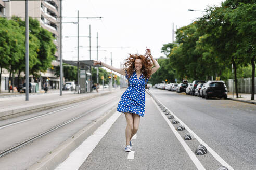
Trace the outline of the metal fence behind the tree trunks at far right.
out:
[[[251,78],[239,78],[237,79],[238,93],[251,93]],[[256,78],[254,77],[254,88],[256,89]],[[233,92],[233,79],[228,79],[227,83],[228,91]],[[234,92],[235,92],[234,81]]]

